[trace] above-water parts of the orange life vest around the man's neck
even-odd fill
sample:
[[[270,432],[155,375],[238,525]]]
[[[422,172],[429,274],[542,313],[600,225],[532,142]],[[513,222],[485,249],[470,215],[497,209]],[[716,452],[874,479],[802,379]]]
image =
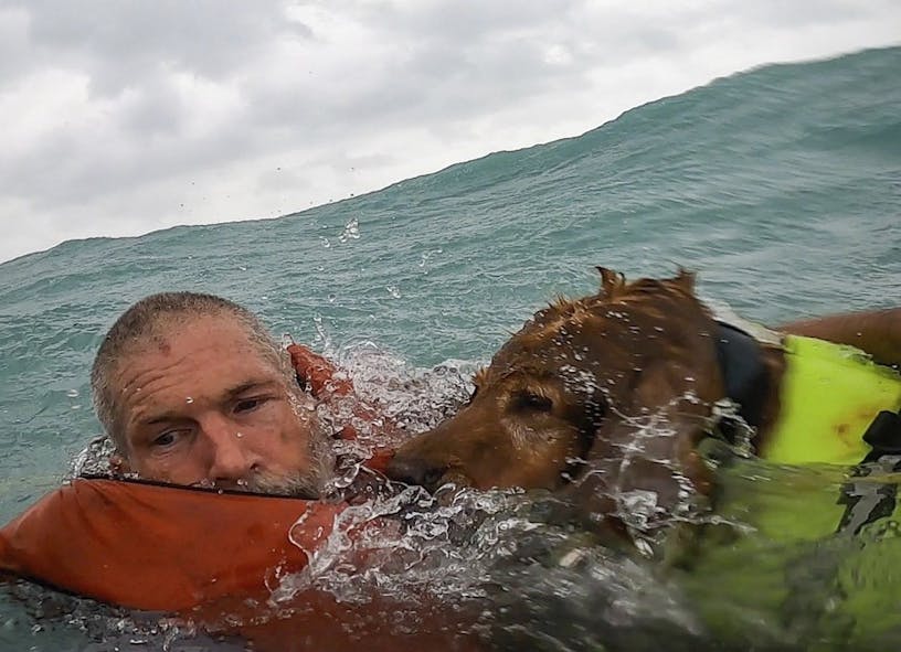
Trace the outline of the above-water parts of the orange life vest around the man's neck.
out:
[[[292,345],[317,396],[348,395],[335,367]],[[341,437],[353,437],[344,429]],[[380,451],[370,460],[379,469]],[[267,596],[275,569],[303,569],[346,503],[75,479],[0,530],[0,574],[123,607],[180,611],[224,597]],[[303,523],[303,524],[299,524]]]

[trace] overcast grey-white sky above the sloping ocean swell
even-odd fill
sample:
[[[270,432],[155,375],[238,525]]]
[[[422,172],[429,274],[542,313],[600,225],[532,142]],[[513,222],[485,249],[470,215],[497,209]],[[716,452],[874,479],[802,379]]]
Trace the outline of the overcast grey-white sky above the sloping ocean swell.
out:
[[[0,260],[274,217],[899,43],[898,0],[0,0]]]

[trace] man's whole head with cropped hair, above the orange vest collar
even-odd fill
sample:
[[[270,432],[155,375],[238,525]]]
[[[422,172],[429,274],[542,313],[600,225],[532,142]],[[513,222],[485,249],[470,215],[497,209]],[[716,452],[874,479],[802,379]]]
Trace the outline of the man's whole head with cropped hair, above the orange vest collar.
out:
[[[325,435],[287,355],[246,309],[165,292],[113,324],[91,373],[117,463],[149,480],[315,493]]]

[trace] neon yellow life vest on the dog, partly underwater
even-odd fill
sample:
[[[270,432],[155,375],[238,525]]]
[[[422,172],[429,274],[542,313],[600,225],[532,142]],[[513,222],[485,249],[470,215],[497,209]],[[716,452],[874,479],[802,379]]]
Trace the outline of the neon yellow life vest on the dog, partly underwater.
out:
[[[852,346],[782,344],[778,420],[762,459],[720,469],[716,519],[677,570],[680,586],[724,649],[893,649],[901,467],[861,462],[881,452],[868,430],[901,408],[901,375]]]

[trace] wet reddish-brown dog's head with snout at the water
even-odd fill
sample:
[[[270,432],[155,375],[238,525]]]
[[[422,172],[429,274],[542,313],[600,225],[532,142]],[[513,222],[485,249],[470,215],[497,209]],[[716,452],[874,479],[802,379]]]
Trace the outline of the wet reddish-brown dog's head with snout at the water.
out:
[[[432,489],[556,489],[604,466],[659,489],[675,466],[700,481],[693,448],[722,381],[693,276],[627,284],[598,269],[597,295],[537,312],[476,374],[469,403],[401,447],[389,474]]]

